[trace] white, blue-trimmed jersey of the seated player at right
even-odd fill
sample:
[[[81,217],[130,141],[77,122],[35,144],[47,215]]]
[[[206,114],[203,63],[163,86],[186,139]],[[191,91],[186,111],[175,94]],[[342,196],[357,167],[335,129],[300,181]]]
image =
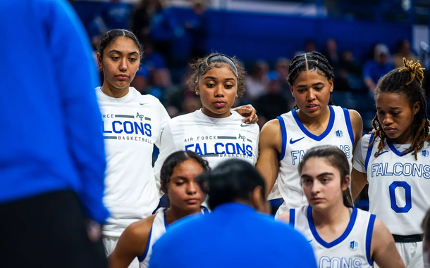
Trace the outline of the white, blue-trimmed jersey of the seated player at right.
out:
[[[353,208],[343,234],[327,243],[314,226],[310,205],[290,209],[290,225],[311,243],[319,268],[372,267],[370,246],[375,218],[367,211]]]

